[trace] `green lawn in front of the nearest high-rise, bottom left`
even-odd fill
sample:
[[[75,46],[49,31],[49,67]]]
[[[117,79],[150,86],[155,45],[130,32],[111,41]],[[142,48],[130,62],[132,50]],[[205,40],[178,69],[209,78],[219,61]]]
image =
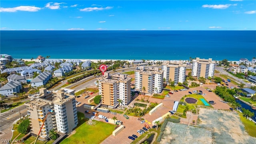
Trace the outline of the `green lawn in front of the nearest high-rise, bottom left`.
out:
[[[64,139],[60,144],[100,144],[115,130],[115,125],[93,120],[95,125],[82,124],[76,133]]]

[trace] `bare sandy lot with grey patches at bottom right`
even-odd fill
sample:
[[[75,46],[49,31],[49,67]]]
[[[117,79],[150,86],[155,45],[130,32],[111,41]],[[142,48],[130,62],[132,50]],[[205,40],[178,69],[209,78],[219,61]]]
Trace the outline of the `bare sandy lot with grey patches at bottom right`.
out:
[[[198,126],[168,122],[160,144],[255,144],[237,113],[200,108]]]

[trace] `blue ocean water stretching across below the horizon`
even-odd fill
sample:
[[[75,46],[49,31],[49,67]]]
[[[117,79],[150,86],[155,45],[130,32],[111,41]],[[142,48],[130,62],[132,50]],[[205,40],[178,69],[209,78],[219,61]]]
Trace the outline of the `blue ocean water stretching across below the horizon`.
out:
[[[0,53],[31,59],[239,60],[256,57],[256,31],[0,31]]]

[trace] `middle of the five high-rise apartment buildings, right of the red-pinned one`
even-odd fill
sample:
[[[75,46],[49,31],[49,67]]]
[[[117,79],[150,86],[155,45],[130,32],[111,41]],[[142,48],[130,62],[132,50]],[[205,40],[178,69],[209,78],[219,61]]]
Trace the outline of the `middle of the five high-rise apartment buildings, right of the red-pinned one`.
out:
[[[138,66],[135,70],[135,88],[145,94],[159,94],[163,89],[164,71],[158,67]],[[145,88],[145,89],[144,89]]]

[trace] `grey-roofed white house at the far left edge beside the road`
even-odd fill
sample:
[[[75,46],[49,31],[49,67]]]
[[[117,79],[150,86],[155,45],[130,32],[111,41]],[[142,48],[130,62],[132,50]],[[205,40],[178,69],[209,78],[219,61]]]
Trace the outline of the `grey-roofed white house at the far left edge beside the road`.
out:
[[[10,81],[0,88],[0,94],[4,96],[12,96],[14,92],[18,93],[22,89],[21,83],[18,81]]]

